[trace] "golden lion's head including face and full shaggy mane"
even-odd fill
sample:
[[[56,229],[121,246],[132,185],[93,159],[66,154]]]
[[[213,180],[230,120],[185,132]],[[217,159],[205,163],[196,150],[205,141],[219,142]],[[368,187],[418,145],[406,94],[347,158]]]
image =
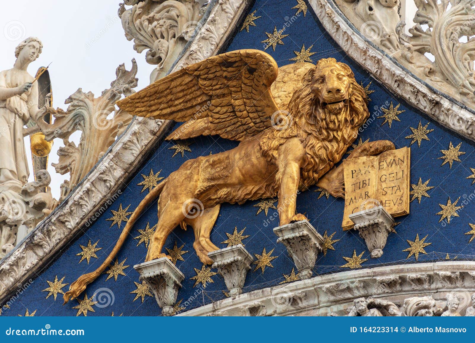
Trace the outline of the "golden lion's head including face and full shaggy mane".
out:
[[[305,147],[302,176],[307,186],[342,158],[369,117],[363,88],[350,67],[334,58],[321,59],[305,73],[288,109],[292,125],[269,132],[261,146],[265,153],[275,155],[286,139],[298,136]]]

